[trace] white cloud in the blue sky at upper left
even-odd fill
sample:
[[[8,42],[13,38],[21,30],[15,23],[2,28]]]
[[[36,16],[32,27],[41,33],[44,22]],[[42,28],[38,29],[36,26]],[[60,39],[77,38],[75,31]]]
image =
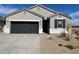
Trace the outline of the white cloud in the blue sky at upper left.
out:
[[[8,6],[0,5],[0,14],[9,14],[9,13],[14,12],[16,10],[17,10],[17,8],[12,8],[12,7],[8,7]]]

